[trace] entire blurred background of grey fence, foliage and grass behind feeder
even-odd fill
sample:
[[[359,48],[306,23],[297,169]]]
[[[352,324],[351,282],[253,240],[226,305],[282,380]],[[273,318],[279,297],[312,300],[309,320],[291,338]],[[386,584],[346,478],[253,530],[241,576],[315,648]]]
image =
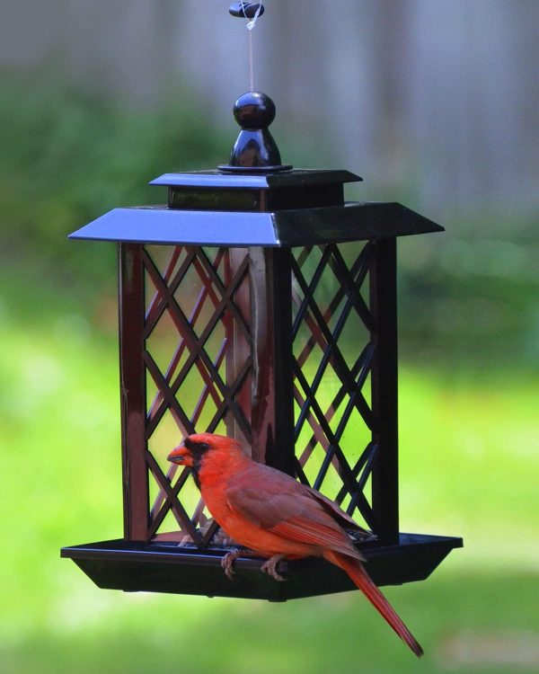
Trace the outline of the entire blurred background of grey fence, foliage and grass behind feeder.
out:
[[[115,250],[66,235],[223,163],[248,88],[221,0],[0,8],[0,671],[539,671],[539,4],[267,0],[256,84],[283,159],[446,226],[402,239],[402,530],[464,536],[387,589],[285,605],[93,587],[121,536]]]

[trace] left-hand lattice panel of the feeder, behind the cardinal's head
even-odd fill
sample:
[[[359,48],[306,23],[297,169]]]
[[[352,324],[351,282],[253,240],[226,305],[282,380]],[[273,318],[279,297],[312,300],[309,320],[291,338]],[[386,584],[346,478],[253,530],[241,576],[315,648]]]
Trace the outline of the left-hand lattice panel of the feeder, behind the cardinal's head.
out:
[[[166,457],[195,432],[251,442],[249,261],[241,249],[146,246],[146,462],[149,536],[216,531],[187,468]]]

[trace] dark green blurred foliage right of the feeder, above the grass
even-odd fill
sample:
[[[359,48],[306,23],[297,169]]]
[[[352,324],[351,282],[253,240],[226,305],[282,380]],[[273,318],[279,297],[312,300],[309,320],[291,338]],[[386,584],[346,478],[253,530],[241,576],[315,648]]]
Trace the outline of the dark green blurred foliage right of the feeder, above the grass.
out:
[[[448,226],[448,229],[450,227]],[[402,355],[451,369],[539,371],[536,235],[470,226],[400,243]]]

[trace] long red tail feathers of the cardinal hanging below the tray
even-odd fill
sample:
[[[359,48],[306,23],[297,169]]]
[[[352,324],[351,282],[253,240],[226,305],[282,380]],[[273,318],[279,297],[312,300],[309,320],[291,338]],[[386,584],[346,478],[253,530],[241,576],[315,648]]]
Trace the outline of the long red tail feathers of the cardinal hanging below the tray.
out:
[[[340,568],[349,574],[349,577],[356,583],[359,590],[361,590],[371,602],[371,604],[379,611],[380,615],[393,627],[393,630],[401,637],[404,643],[407,643],[411,650],[418,656],[423,655],[423,649],[416,641],[411,631],[402,622],[401,618],[397,616],[391,604],[385,599],[384,595],[375,583],[371,581],[363,564],[353,557],[348,557],[345,554],[336,553],[332,550],[327,550],[323,555],[328,562],[340,566]]]

